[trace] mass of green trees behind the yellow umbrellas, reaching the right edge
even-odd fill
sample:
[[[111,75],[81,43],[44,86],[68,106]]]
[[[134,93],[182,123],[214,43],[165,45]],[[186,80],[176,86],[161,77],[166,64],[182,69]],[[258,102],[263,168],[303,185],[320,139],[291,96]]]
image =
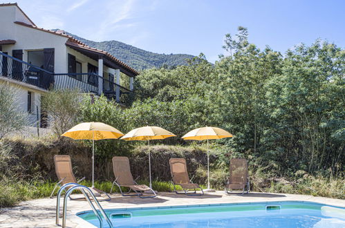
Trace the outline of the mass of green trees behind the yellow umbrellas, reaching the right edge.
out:
[[[124,116],[106,109],[106,115],[88,120],[104,121],[117,113],[121,118],[109,124],[123,126],[124,132],[154,125],[178,137],[197,127],[219,126],[234,134],[216,142],[226,148],[220,156],[225,164],[229,157],[243,157],[253,170],[276,176],[342,175],[344,49],[317,40],[282,55],[250,44],[243,27],[239,34],[225,36],[223,48],[229,55],[214,65],[201,54],[187,66],[144,70],[136,77],[135,101],[122,111]],[[96,107],[95,113],[104,112],[102,106],[88,108]],[[178,137],[165,143],[186,143]]]

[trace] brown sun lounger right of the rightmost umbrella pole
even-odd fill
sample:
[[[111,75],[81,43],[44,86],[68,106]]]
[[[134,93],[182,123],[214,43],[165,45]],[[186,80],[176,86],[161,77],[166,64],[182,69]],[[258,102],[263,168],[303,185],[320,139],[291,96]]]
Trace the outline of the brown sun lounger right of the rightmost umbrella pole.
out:
[[[250,182],[248,178],[248,162],[243,158],[234,158],[230,160],[230,177],[225,185],[225,193],[235,193],[232,190],[242,190],[242,194],[250,191]]]

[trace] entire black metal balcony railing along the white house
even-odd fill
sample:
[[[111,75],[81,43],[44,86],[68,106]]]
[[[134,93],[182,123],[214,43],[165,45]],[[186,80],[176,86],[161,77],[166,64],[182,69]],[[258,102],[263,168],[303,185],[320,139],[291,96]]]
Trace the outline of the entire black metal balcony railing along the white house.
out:
[[[129,104],[132,91],[95,73],[51,73],[0,52],[0,77],[31,84],[46,90],[75,88],[84,93],[101,95],[120,104]]]

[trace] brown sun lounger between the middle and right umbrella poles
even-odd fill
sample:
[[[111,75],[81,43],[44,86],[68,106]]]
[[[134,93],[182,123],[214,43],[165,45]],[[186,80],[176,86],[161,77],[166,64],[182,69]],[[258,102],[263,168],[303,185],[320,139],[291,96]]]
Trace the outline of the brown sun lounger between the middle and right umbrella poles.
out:
[[[194,184],[192,180],[189,180],[185,158],[170,158],[169,165],[172,178],[171,182],[177,194],[186,194],[187,196],[201,196],[204,194],[203,189],[198,184]],[[180,185],[183,192],[176,191],[175,185]],[[194,192],[190,192],[189,189],[194,189]],[[200,189],[201,193],[196,193],[196,189]]]

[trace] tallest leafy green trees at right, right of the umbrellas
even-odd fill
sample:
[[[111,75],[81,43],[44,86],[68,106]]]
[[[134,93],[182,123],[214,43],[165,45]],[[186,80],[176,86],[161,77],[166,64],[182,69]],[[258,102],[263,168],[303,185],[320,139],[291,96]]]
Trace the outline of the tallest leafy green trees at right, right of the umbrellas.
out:
[[[282,56],[239,32],[211,96],[215,123],[236,135],[230,149],[277,173],[344,170],[344,50],[317,40]]]

